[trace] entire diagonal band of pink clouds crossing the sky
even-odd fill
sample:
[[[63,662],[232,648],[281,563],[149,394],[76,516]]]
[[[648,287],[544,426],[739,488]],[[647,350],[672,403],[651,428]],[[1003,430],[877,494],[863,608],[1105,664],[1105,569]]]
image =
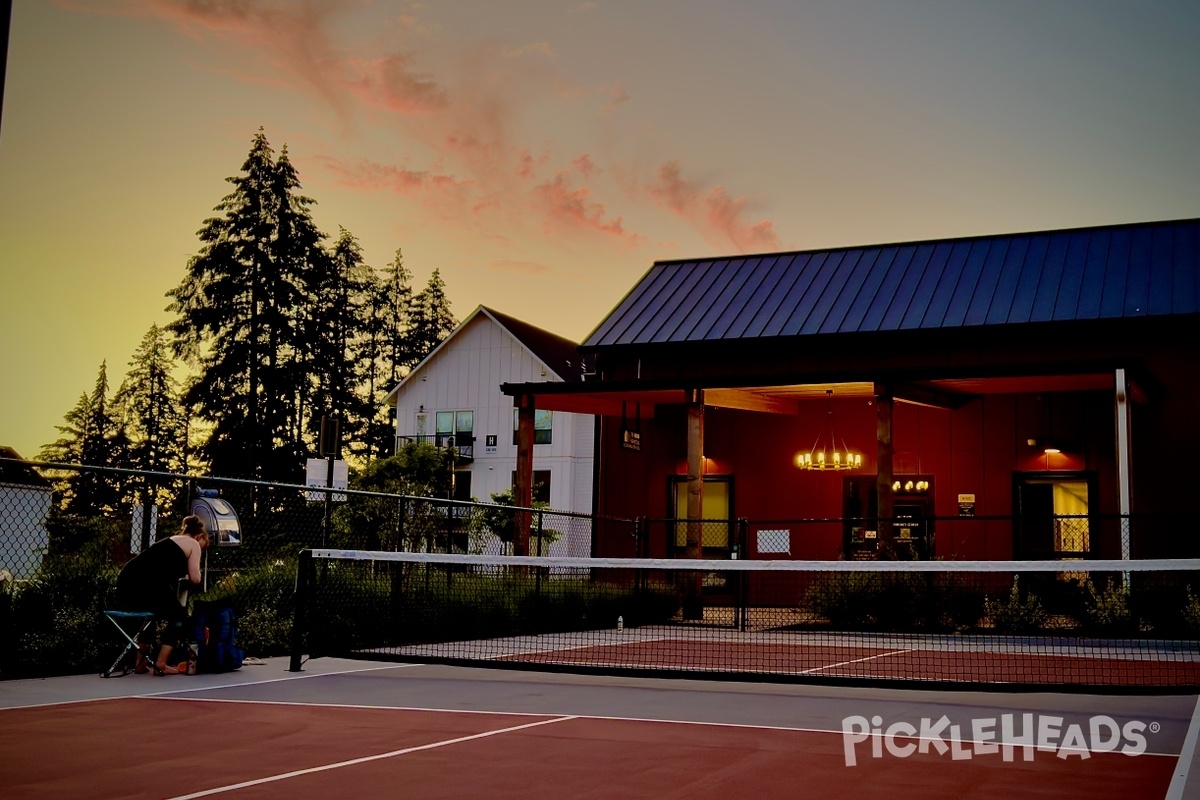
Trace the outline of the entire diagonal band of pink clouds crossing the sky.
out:
[[[342,17],[358,12],[362,0],[55,1],[161,19],[214,46],[221,68],[242,73],[241,79],[308,91],[347,125],[370,114],[371,125],[388,126],[409,146],[404,161],[424,158],[424,168],[337,157],[312,162],[343,187],[418,197],[422,210],[476,240],[503,231],[517,241],[520,231],[540,223],[564,243],[582,236],[592,245],[598,233],[607,241],[644,243],[646,236],[629,230],[626,216],[612,209],[614,201],[649,198],[715,246],[732,243],[743,252],[779,246],[770,221],[748,219],[751,200],[685,178],[677,162],[646,180],[619,158],[563,157],[552,139],[533,145],[533,137],[545,136],[542,128],[517,133],[528,127],[523,112],[547,101],[599,121],[629,98],[623,85],[586,89],[566,80],[556,72],[551,42],[457,43],[442,50],[439,60],[449,66],[434,74],[421,67],[421,55],[437,29],[422,26],[416,5],[396,12],[388,28],[392,44],[372,53],[335,36],[344,28]],[[584,2],[575,10],[594,8]],[[613,150],[611,144],[606,150]],[[600,182],[601,175],[610,180]],[[602,194],[613,181],[626,190],[622,196],[618,188],[616,199]]]

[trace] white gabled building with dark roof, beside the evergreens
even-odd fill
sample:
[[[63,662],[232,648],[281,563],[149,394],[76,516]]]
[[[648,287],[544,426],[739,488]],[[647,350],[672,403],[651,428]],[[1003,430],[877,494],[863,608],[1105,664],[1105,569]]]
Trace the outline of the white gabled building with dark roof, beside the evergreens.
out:
[[[494,309],[475,308],[388,396],[396,409],[396,446],[431,441],[454,446],[455,499],[490,503],[512,488],[516,409],[500,384],[582,380],[577,344]],[[534,499],[562,512],[590,515],[595,417],[538,411]],[[584,521],[554,517],[560,539],[552,555],[590,555]],[[498,552],[498,542],[486,549]]]

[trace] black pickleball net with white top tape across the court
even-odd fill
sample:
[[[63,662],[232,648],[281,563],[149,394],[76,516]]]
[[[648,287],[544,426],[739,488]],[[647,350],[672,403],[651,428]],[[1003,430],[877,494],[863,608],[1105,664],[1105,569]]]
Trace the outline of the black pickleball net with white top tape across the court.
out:
[[[1200,560],[306,551],[302,655],[961,687],[1200,686]]]

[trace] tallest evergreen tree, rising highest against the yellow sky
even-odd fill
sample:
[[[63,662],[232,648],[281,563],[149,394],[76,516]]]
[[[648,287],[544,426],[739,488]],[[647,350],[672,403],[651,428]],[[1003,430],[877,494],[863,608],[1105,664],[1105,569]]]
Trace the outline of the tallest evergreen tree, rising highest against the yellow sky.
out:
[[[295,481],[310,408],[301,315],[323,234],[286,152],[256,134],[221,216],[198,231],[199,254],[169,296],[175,353],[196,366],[185,403],[210,423],[202,456],[218,475]]]

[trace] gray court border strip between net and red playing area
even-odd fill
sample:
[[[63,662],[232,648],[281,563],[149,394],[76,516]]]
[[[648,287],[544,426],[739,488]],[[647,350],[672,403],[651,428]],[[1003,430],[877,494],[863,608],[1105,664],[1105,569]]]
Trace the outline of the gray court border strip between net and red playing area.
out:
[[[439,664],[380,664],[316,658],[302,672],[269,658],[221,675],[76,675],[0,682],[0,709],[115,697],[366,708],[576,715],[752,726],[840,734],[848,717],[887,728],[922,721],[971,730],[972,721],[1018,721],[1032,715],[1060,729],[1088,730],[1103,715],[1118,727],[1144,726],[1147,753],[1176,754],[1168,798],[1200,800],[1200,703],[1194,694],[1079,694],[1052,692],[955,692],[724,680],[598,676]],[[940,722],[942,717],[948,722]],[[1061,717],[1061,721],[1058,718]],[[1018,723],[1020,724],[1020,723]],[[997,723],[998,728],[998,723]]]

